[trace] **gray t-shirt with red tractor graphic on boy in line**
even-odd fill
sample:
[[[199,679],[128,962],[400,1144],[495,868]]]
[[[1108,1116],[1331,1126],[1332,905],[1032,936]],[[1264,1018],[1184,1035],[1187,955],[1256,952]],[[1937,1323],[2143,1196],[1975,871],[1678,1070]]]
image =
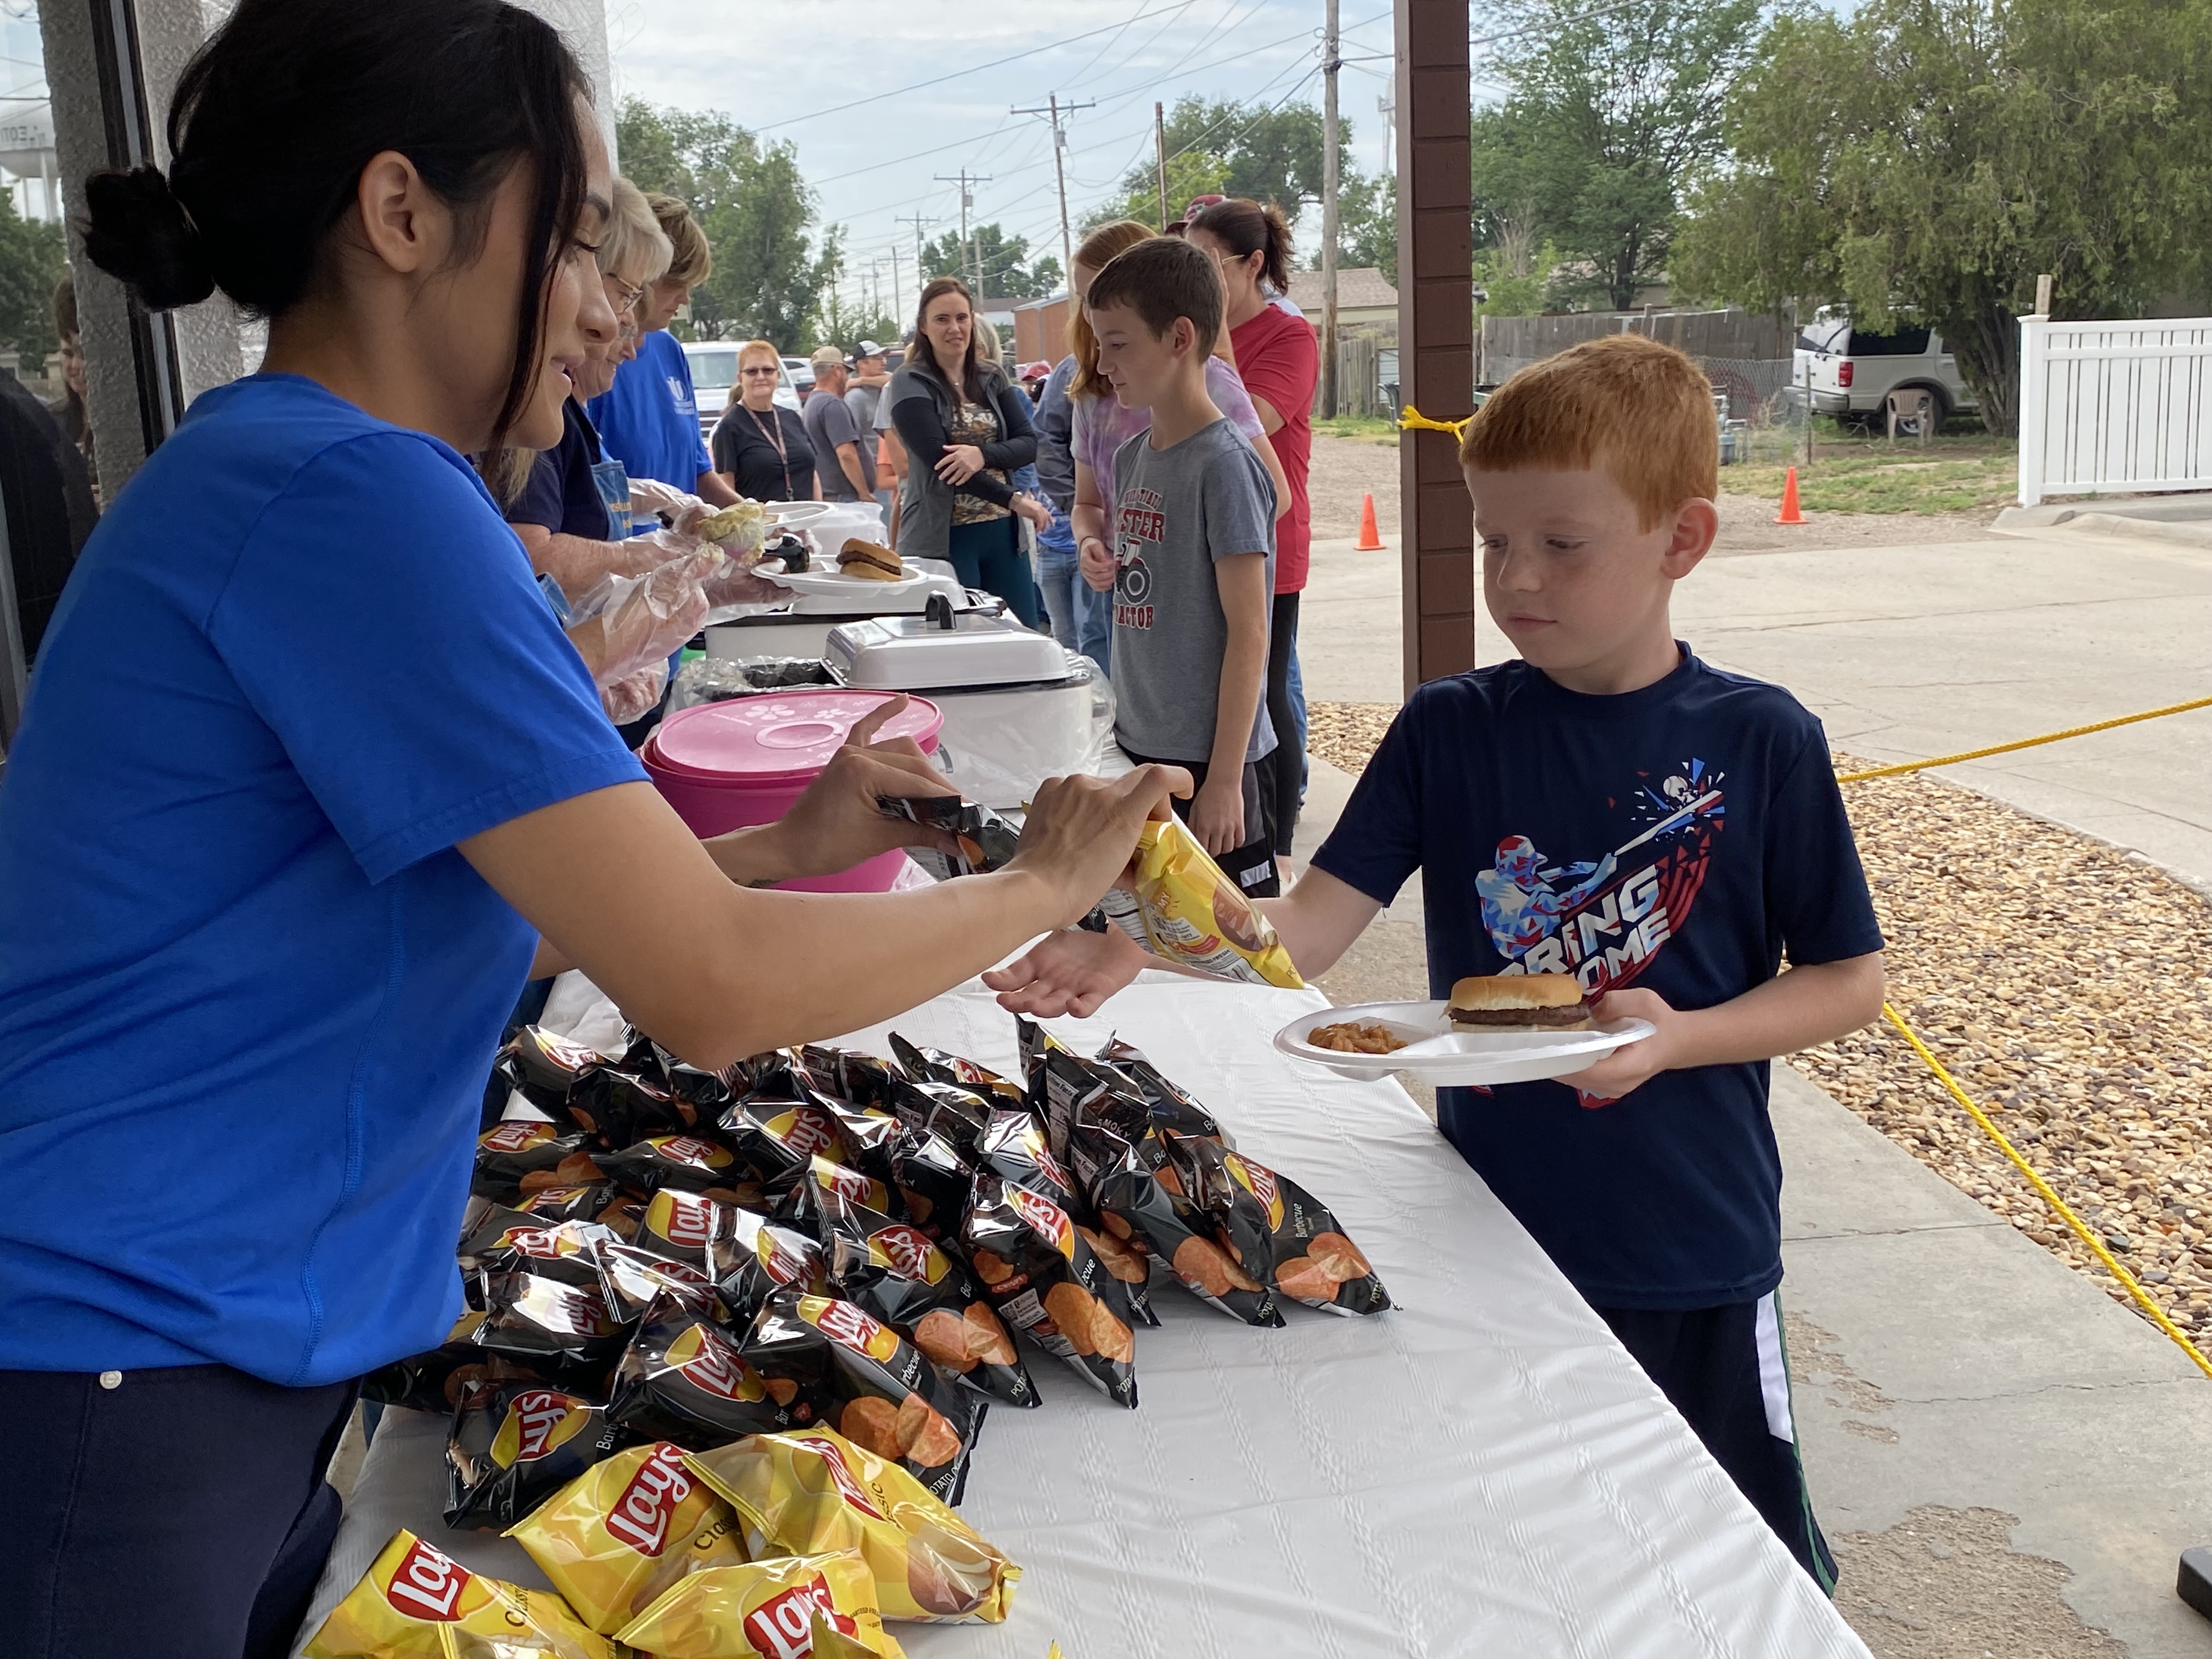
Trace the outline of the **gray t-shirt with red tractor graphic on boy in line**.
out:
[[[1274,591],[1274,482],[1228,420],[1152,449],[1139,431],[1115,451],[1113,688],[1121,748],[1161,761],[1210,761],[1221,657],[1214,560],[1267,555]],[[1248,761],[1274,748],[1267,706]]]

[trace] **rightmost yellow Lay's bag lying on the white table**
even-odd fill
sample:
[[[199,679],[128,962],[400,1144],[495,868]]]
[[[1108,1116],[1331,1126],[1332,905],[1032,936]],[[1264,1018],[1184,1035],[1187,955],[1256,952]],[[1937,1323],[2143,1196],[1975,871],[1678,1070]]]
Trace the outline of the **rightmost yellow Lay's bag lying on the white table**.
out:
[[[900,1464],[832,1429],[757,1433],[684,1464],[730,1500],[754,1555],[858,1551],[887,1619],[1006,1617],[1022,1568]]]

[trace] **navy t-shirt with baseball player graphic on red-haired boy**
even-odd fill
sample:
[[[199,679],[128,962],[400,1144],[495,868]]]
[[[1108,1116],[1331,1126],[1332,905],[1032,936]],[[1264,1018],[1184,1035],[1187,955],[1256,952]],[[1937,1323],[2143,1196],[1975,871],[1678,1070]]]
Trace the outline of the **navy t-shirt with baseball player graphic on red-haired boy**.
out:
[[[1588,697],[1524,661],[1422,686],[1314,867],[1389,902],[1420,869],[1429,995],[1575,973],[1710,1009],[1882,949],[1820,721],[1701,664]],[[1438,1128],[1597,1307],[1781,1283],[1767,1066],[1668,1071],[1610,1106],[1557,1082],[1438,1091]]]

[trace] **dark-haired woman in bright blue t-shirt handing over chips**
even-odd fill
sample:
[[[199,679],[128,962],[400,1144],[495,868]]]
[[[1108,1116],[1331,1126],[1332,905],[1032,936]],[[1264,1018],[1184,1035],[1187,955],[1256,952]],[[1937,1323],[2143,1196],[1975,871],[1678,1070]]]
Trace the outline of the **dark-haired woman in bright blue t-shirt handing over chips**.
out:
[[[460,1312],[533,962],[719,1068],[1075,922],[1188,790],[1046,783],[1013,865],[927,891],[757,889],[911,838],[878,792],[942,787],[847,745],[781,825],[699,843],[462,460],[553,447],[615,330],[560,35],[241,0],[168,153],[84,184],[86,254],[153,310],[221,288],[268,358],[117,491],[0,781],[0,1608],[53,1659],[288,1650],[354,1378]]]

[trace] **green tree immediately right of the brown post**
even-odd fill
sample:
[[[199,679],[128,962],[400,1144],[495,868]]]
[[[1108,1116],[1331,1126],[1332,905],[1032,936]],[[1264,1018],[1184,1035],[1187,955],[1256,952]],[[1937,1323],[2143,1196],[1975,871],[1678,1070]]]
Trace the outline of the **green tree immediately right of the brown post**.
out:
[[[1721,104],[1750,62],[1761,0],[1520,0],[1493,60],[1502,108],[1475,117],[1478,226],[1515,276],[1555,241],[1573,299],[1615,310],[1661,281],[1690,175],[1721,155]]]

